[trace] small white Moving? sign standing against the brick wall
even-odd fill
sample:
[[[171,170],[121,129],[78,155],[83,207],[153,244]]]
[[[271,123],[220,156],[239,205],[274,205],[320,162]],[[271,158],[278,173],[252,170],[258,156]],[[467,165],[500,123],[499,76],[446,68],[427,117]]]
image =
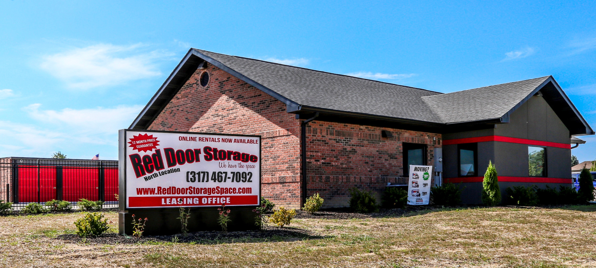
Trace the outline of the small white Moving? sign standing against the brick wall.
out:
[[[409,166],[408,205],[428,205],[433,166]]]

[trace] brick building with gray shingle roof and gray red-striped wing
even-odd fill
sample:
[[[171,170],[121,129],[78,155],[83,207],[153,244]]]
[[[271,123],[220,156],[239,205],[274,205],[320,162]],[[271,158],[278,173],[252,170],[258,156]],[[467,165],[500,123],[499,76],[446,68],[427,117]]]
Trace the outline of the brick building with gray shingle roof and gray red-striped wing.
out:
[[[130,129],[261,135],[262,195],[294,208],[379,194],[408,164],[462,182],[467,203],[489,160],[504,185],[570,185],[570,137],[594,133],[551,76],[442,94],[198,49]]]

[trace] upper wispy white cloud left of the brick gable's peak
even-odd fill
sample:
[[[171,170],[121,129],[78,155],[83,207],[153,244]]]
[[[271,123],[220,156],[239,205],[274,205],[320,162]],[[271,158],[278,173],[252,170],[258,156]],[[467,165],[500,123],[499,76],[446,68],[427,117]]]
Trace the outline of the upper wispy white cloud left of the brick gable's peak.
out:
[[[41,68],[63,80],[69,88],[89,89],[120,85],[133,80],[159,76],[154,61],[159,52],[138,52],[139,45],[99,44],[73,48],[43,57]]]

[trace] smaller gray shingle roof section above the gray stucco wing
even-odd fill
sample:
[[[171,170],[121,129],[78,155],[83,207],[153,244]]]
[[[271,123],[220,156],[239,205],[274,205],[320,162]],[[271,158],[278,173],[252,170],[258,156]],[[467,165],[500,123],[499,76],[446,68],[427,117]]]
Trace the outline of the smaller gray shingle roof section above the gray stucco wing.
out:
[[[422,99],[443,123],[496,119],[519,104],[548,77],[423,96]]]

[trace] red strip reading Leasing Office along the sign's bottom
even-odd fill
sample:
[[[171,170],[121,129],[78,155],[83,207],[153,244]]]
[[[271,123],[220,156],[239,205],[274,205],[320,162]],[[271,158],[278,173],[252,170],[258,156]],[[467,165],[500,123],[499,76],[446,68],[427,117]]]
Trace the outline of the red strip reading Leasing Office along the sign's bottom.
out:
[[[259,205],[258,195],[129,197],[128,207],[198,207],[216,205]]]

